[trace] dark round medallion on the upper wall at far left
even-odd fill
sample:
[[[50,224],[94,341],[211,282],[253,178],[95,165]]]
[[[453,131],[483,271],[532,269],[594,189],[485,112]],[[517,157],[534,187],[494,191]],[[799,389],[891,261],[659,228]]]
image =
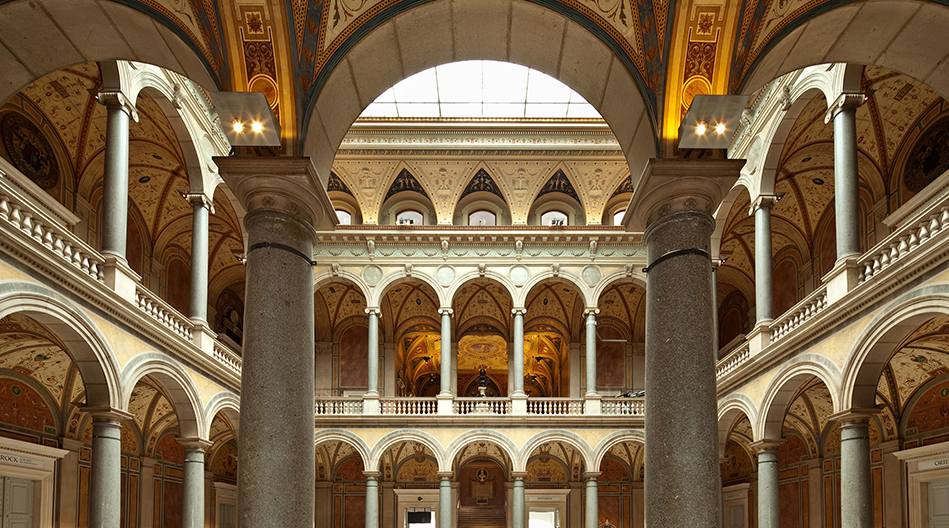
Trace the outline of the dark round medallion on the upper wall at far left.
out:
[[[3,120],[0,134],[13,165],[42,189],[59,183],[59,164],[46,136],[30,120],[10,114]]]

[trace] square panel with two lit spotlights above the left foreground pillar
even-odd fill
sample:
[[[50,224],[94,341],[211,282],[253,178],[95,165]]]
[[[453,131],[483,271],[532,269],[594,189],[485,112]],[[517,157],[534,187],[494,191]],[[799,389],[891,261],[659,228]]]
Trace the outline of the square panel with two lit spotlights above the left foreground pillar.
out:
[[[260,92],[211,92],[211,102],[231,146],[279,147],[280,124]],[[249,132],[253,131],[253,134]]]

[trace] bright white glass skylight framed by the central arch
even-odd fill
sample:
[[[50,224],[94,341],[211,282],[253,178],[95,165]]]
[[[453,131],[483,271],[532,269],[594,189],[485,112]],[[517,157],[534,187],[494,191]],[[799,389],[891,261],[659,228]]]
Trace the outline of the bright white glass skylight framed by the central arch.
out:
[[[553,77],[517,64],[463,61],[417,73],[386,90],[360,117],[599,118]]]

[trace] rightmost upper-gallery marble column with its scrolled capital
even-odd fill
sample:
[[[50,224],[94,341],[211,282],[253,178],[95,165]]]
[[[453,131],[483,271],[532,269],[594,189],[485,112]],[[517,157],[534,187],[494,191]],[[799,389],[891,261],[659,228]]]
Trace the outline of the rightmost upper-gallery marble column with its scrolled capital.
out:
[[[838,262],[860,254],[857,107],[864,101],[866,96],[861,93],[841,94],[825,117],[825,122],[834,121],[834,214]]]

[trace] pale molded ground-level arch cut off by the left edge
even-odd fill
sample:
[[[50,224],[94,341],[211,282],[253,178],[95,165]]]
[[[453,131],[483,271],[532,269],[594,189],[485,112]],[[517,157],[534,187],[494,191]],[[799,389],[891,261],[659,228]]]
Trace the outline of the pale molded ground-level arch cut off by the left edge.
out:
[[[86,387],[86,405],[124,408],[119,364],[96,325],[71,301],[38,284],[0,282],[0,318],[23,313],[46,326],[76,363]]]

